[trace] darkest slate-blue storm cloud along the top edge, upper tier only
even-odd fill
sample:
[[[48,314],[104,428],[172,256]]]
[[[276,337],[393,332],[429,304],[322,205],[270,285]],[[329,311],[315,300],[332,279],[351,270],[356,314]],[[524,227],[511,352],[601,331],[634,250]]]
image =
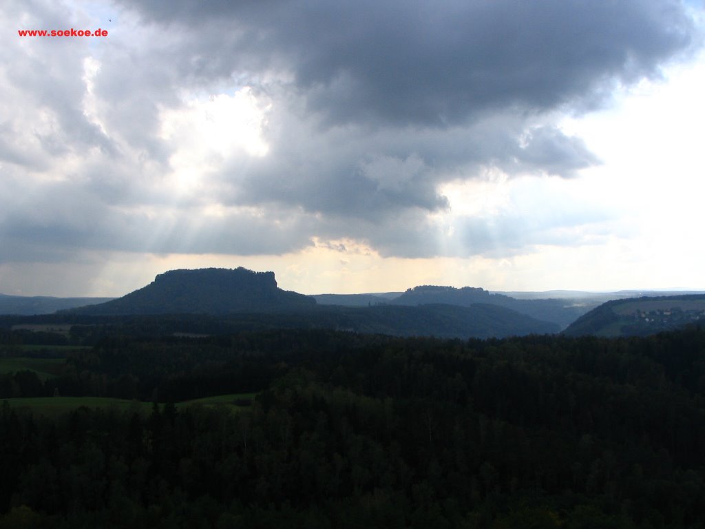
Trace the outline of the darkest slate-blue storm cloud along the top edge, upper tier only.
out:
[[[328,123],[445,126],[508,107],[591,106],[615,80],[655,75],[693,31],[675,0],[123,4],[206,37],[181,63],[286,65]]]

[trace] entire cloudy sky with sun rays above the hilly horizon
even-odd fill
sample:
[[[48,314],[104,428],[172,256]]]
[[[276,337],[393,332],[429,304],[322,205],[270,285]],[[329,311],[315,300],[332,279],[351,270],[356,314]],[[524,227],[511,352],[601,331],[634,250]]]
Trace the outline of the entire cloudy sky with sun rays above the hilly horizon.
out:
[[[4,0],[0,293],[705,289],[705,6]],[[102,37],[27,37],[18,30]]]

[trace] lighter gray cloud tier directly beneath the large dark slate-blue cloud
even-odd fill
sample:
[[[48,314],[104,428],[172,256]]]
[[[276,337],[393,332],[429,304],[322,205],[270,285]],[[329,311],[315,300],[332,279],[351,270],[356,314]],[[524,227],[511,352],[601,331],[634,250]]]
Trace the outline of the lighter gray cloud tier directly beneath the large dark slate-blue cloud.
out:
[[[271,121],[288,119],[274,116]],[[448,209],[439,184],[475,178],[483,167],[496,166],[510,175],[572,176],[598,163],[582,140],[550,126],[527,127],[512,116],[443,130],[345,127],[321,134],[302,121],[284,128],[295,133],[286,141],[273,138],[267,157],[246,170],[223,171],[220,200],[278,202],[322,213],[326,219],[379,222],[398,219],[407,209]],[[236,184],[229,187],[231,182]]]

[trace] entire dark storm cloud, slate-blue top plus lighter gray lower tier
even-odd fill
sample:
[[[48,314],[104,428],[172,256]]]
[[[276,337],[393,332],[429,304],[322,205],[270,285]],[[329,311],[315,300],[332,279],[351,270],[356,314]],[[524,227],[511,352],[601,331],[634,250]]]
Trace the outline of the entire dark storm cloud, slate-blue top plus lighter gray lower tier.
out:
[[[439,184],[484,167],[573,176],[599,160],[545,116],[603,104],[696,39],[663,0],[122,4],[181,35],[184,83],[273,102],[268,156],[224,169],[221,200],[322,225],[447,209]]]

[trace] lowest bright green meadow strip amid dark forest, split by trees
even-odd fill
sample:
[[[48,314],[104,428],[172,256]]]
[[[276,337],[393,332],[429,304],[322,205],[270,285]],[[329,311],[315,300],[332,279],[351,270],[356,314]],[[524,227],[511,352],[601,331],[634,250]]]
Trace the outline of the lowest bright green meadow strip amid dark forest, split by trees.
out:
[[[226,406],[233,411],[246,409],[236,401],[244,403],[252,401],[255,393],[227,394],[205,397],[176,403],[177,408],[186,406]],[[18,399],[4,399],[13,408],[27,409],[37,415],[56,416],[67,411],[75,410],[81,406],[87,408],[117,408],[119,411],[135,411],[137,413],[149,413],[152,411],[151,402],[128,401],[125,399],[109,399],[107,397],[32,397]]]

